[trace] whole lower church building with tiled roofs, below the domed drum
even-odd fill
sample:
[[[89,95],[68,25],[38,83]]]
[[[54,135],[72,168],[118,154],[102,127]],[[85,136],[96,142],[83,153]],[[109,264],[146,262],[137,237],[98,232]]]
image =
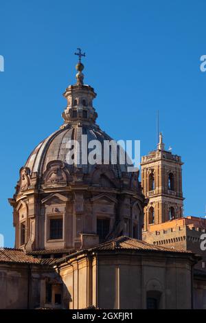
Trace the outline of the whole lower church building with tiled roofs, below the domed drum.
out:
[[[191,252],[121,236],[57,259],[19,263],[18,252],[14,264],[12,253],[0,252],[1,309],[193,307]]]

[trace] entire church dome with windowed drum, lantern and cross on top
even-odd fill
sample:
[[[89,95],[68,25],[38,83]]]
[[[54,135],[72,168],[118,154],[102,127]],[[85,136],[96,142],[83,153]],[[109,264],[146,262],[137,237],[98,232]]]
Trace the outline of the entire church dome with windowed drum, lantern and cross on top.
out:
[[[76,69],[76,84],[63,94],[64,123],[34,148],[9,199],[15,247],[27,252],[91,247],[122,234],[141,238],[139,171],[128,172],[119,144],[113,155],[111,137],[95,121],[96,93],[84,85],[80,59]]]

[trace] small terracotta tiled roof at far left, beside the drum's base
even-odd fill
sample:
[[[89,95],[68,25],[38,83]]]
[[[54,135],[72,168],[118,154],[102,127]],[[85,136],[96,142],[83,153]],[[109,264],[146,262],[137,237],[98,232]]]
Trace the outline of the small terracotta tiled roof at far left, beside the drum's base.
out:
[[[0,248],[0,263],[41,264],[41,261],[25,254],[21,249]]]

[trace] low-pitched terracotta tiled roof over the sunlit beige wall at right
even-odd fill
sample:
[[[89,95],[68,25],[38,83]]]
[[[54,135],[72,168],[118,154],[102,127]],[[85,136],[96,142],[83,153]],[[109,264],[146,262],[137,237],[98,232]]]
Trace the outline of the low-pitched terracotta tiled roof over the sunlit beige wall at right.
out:
[[[144,251],[155,251],[155,252],[174,252],[174,253],[189,253],[190,251],[185,250],[177,250],[168,247],[160,247],[157,245],[150,245],[150,243],[146,243],[145,241],[137,240],[134,238],[129,238],[128,236],[119,236],[119,238],[115,238],[111,241],[107,241],[106,243],[102,243],[97,247],[92,248],[93,250],[118,250],[118,249],[134,249],[134,250],[144,250]]]

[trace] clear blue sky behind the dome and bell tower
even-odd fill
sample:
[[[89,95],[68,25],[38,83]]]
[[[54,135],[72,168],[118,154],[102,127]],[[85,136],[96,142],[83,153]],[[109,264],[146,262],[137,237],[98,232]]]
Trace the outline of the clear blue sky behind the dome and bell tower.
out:
[[[156,112],[166,148],[182,156],[185,215],[205,214],[204,0],[1,0],[0,233],[13,246],[12,197],[34,146],[62,124],[62,92],[87,53],[98,124],[115,139],[155,148]]]

